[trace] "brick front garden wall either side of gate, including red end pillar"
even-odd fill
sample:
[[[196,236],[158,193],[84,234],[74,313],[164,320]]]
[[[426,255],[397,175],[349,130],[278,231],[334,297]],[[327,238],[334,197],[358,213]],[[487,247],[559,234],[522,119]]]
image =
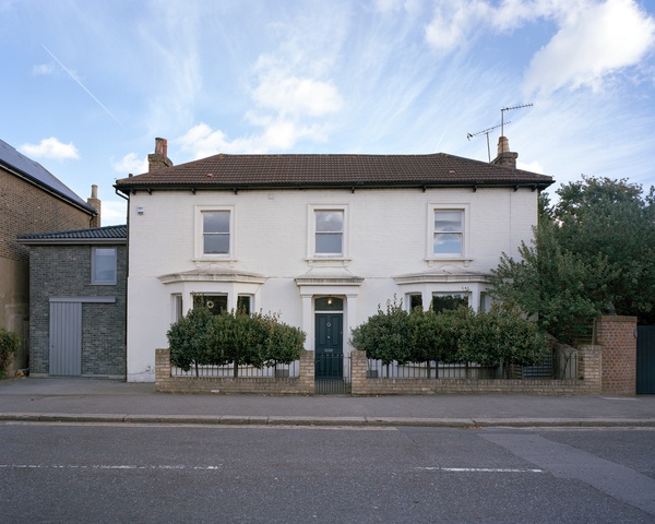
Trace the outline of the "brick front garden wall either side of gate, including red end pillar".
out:
[[[548,379],[377,379],[367,377],[365,352],[350,353],[353,395],[531,394],[599,395],[635,394],[636,340],[633,317],[597,319],[596,337],[603,345],[577,348],[577,378]],[[312,394],[314,353],[303,352],[299,379],[188,379],[170,377],[170,353],[156,350],[157,391],[189,393]],[[300,385],[302,384],[302,385]]]

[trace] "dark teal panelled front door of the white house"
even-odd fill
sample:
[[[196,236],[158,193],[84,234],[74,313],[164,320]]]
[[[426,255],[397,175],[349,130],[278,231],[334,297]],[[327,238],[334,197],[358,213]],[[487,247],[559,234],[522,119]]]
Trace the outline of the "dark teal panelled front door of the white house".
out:
[[[342,312],[315,315],[317,379],[342,379],[344,376],[344,315]]]

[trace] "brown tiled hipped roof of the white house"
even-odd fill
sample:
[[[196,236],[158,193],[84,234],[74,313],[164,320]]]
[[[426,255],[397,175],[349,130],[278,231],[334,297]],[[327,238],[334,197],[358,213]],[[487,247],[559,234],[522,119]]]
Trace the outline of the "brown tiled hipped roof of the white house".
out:
[[[152,189],[384,188],[531,186],[551,177],[444,153],[431,155],[225,155],[117,181],[121,191]]]

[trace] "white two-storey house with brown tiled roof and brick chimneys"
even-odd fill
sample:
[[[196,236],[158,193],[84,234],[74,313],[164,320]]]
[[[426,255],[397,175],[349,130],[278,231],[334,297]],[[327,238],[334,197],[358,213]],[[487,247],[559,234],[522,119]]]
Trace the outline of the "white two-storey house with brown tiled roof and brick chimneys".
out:
[[[348,354],[350,330],[389,299],[486,307],[502,252],[532,238],[547,176],[433,155],[215,155],[172,166],[157,139],[129,199],[128,381],[202,300],[277,312],[306,348]]]

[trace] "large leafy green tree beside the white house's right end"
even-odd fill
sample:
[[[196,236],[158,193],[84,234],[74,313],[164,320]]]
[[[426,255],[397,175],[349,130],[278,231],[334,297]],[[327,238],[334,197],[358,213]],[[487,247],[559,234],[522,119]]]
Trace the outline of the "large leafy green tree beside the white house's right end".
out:
[[[539,223],[521,260],[503,253],[492,294],[535,315],[562,342],[600,313],[655,323],[655,199],[627,179],[582,177],[539,199]]]

